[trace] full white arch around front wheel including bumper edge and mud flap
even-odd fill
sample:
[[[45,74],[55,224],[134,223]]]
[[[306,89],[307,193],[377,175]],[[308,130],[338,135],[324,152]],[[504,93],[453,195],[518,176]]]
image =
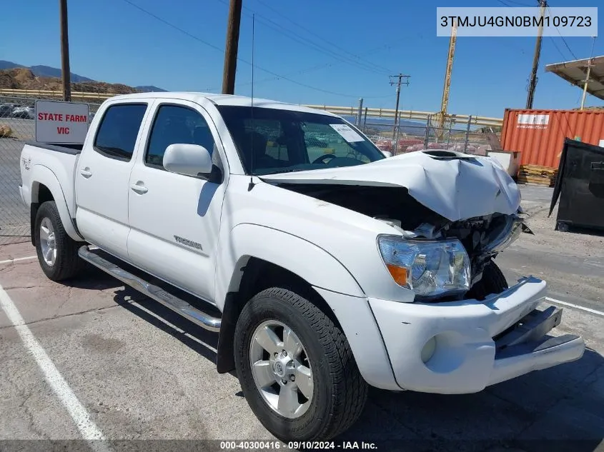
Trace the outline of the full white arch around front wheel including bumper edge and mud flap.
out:
[[[378,388],[400,390],[367,297],[335,256],[304,238],[257,224],[235,226],[222,243],[228,245],[219,248],[217,259],[216,302],[224,313],[217,357],[219,372],[234,366],[232,336],[237,314],[232,312],[231,302],[224,311],[225,298],[227,293],[238,291],[243,268],[254,257],[291,271],[315,288],[342,326],[365,381]]]

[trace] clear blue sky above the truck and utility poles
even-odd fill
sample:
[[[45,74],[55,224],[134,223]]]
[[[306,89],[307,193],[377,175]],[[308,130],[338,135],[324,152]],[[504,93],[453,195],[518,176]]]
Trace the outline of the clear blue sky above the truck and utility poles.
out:
[[[128,1],[68,0],[71,71],[111,83],[220,91],[223,53],[215,48],[224,49],[228,0]],[[536,4],[535,0],[503,1]],[[0,59],[60,67],[57,3],[23,0],[4,9]],[[402,88],[401,109],[440,109],[448,38],[436,36],[435,16],[436,7],[451,6],[450,1],[243,3],[239,58],[252,59],[254,12],[255,64],[272,73],[255,69],[254,96],[342,106],[355,105],[363,97],[366,106],[394,108],[395,89],[388,75],[402,72],[410,74],[411,84]],[[602,5],[601,0],[551,0],[549,4]],[[455,6],[502,4],[500,0],[457,0]],[[577,58],[590,55],[592,39],[566,38],[566,43],[570,51],[560,37],[543,39],[535,108],[579,105],[580,89],[543,70],[545,64],[575,59],[571,51]],[[505,108],[524,108],[534,47],[533,37],[457,39],[450,113],[502,117]],[[594,55],[603,54],[604,36],[600,36]],[[250,80],[251,66],[239,61],[236,94],[249,95]],[[587,104],[603,106],[604,102],[588,96]]]

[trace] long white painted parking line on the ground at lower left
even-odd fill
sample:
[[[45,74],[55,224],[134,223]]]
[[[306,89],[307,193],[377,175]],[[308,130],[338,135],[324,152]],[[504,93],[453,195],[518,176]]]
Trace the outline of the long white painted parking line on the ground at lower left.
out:
[[[29,353],[34,356],[38,367],[44,374],[44,378],[46,378],[46,382],[50,385],[52,391],[54,391],[57,398],[59,398],[59,401],[61,401],[69,412],[69,416],[73,419],[84,440],[88,441],[89,446],[96,452],[110,451],[111,449],[107,446],[105,441],[94,441],[105,439],[102,431],[100,431],[91,420],[86,408],[79,402],[74,391],[71,391],[71,388],[69,388],[69,385],[61,376],[61,373],[56,369],[54,363],[52,363],[51,359],[46,354],[46,351],[44,351],[44,348],[41,347],[25,324],[23,317],[21,317],[21,313],[19,313],[19,310],[9,297],[9,294],[6,293],[1,285],[0,306],[14,325],[19,336],[21,336],[21,341],[23,341],[24,346]]]

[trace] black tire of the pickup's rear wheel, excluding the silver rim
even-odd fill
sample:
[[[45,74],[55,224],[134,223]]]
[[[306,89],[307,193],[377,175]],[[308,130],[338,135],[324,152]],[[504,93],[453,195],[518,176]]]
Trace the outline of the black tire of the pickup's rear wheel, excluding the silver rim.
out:
[[[52,222],[56,241],[59,246],[54,267],[47,266],[40,253],[39,228],[40,223],[45,216]],[[36,214],[36,228],[34,229],[34,233],[36,233],[36,253],[38,254],[40,265],[44,274],[52,281],[62,281],[71,278],[81,270],[84,261],[78,256],[78,248],[83,243],[75,241],[66,233],[61,217],[59,216],[59,210],[56,209],[56,203],[54,201],[45,201],[39,206],[38,213]]]

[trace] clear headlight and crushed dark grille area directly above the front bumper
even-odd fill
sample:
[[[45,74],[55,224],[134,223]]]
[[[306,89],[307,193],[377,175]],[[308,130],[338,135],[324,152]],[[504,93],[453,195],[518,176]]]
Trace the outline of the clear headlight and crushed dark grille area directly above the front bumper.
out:
[[[471,289],[497,253],[522,231],[530,231],[518,214],[422,223],[412,231],[401,228],[400,221],[382,221],[402,233],[378,237],[385,265],[400,286],[413,290],[422,301],[472,295]]]

